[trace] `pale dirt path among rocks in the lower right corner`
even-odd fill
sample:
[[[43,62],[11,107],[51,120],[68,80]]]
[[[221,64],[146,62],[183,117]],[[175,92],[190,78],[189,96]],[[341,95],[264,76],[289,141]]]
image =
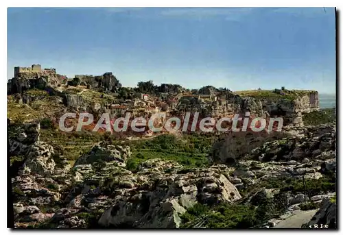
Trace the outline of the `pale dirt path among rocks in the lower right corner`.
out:
[[[278,223],[274,228],[301,228],[301,225],[308,223],[316,212],[317,210],[299,211],[297,214]]]

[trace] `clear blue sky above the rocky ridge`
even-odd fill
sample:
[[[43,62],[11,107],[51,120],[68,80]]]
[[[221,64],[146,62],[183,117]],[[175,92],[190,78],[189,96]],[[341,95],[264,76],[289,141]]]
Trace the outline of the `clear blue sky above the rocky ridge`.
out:
[[[14,66],[112,71],[123,86],[335,93],[333,8],[8,8]]]

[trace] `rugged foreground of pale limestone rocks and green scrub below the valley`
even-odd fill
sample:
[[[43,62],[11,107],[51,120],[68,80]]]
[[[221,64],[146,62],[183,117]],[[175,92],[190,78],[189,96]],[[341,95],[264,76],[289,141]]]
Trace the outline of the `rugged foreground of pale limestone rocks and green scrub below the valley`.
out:
[[[25,156],[10,172],[17,228],[277,227],[308,210],[318,212],[303,227],[335,226],[335,125],[230,165],[208,156],[207,166],[152,158],[134,168],[128,145],[98,143],[71,165],[40,140],[40,125],[9,129],[11,160]]]

